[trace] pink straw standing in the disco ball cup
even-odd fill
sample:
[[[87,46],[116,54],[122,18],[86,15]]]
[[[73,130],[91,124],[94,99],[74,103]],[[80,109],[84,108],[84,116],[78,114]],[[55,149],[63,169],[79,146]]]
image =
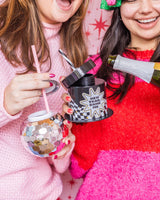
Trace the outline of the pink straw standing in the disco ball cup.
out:
[[[32,53],[33,53],[34,62],[35,62],[36,68],[37,68],[37,72],[41,73],[35,45],[32,45],[31,48],[32,48]],[[46,110],[49,113],[50,109],[49,109],[49,105],[48,105],[48,101],[47,101],[47,96],[46,96],[46,93],[45,93],[44,89],[42,89],[42,94],[43,94],[43,98],[44,98],[44,103],[45,103]]]

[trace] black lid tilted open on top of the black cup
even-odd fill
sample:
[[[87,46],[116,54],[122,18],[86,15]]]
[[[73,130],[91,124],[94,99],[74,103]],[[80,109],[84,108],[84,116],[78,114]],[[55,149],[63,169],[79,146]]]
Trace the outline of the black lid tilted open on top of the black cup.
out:
[[[63,81],[63,85],[66,88],[69,88],[76,81],[86,75],[91,69],[95,67],[95,63],[92,60],[88,60],[86,63],[76,68],[70,75],[68,75]]]

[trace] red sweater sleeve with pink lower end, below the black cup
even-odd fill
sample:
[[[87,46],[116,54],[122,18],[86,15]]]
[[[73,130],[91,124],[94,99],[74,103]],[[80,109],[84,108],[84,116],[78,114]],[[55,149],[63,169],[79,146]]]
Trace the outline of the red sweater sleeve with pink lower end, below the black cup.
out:
[[[81,178],[97,159],[101,144],[101,121],[73,124],[72,132],[76,136],[76,143],[70,172],[74,178]]]

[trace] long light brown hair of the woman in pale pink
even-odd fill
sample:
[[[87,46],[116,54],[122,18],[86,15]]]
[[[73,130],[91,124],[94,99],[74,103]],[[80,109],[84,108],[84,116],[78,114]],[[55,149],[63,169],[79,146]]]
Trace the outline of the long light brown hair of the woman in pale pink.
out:
[[[60,44],[75,67],[87,58],[83,37],[83,19],[89,0],[84,0],[78,11],[60,30]],[[0,7],[0,45],[6,59],[14,66],[24,65],[36,71],[31,45],[36,46],[40,64],[50,61],[50,53],[35,0],[11,0]],[[18,52],[18,53],[17,53]],[[50,68],[50,67],[49,67]]]

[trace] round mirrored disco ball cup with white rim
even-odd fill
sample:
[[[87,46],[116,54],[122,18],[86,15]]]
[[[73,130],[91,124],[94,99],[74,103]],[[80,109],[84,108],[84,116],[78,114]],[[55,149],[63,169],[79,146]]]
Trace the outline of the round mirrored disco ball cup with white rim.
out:
[[[21,141],[25,149],[38,157],[49,157],[59,152],[65,146],[63,138],[68,135],[63,120],[59,113],[54,115],[47,111],[29,115],[21,127]]]

